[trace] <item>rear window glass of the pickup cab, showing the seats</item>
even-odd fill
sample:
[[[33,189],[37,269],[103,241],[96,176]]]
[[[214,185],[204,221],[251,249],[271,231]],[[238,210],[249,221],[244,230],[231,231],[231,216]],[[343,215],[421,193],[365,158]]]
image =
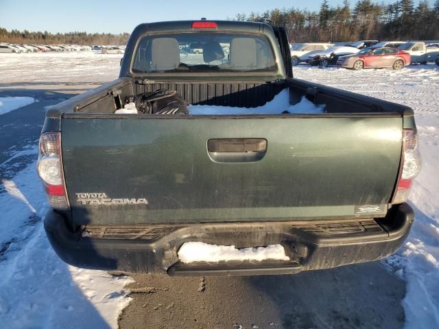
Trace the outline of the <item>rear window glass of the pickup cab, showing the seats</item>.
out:
[[[133,73],[257,73],[277,70],[272,46],[262,35],[193,32],[141,38]]]

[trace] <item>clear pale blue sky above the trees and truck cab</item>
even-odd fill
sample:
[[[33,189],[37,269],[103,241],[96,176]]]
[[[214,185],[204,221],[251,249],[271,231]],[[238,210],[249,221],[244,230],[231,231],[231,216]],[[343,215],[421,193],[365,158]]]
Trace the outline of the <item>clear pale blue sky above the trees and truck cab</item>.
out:
[[[351,0],[355,3],[356,0]],[[394,2],[377,0],[376,2]],[[318,10],[322,0],[0,0],[0,27],[52,33],[86,31],[131,32],[139,23],[178,19],[227,19],[238,12],[263,12],[273,8]],[[433,0],[429,0],[432,3]],[[330,5],[342,0],[329,0]],[[418,3],[418,0],[415,0]]]

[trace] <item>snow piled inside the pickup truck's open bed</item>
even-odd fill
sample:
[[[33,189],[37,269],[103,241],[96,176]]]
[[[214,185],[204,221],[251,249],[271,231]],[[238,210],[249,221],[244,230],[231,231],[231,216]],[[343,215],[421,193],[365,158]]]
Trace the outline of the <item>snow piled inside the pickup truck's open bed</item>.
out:
[[[291,105],[289,103],[288,90],[284,89],[278,93],[271,101],[257,108],[236,108],[230,106],[204,106],[189,105],[189,114],[211,114],[211,115],[238,115],[238,114],[281,114],[289,113],[323,113],[324,106],[316,106],[306,97],[302,97],[299,103]]]

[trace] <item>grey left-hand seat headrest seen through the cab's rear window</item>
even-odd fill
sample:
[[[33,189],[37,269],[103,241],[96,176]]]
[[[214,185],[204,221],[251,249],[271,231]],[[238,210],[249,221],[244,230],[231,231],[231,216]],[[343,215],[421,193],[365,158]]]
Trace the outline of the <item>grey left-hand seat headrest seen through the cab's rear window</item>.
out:
[[[180,65],[180,49],[176,38],[154,38],[151,44],[152,69],[174,70]]]

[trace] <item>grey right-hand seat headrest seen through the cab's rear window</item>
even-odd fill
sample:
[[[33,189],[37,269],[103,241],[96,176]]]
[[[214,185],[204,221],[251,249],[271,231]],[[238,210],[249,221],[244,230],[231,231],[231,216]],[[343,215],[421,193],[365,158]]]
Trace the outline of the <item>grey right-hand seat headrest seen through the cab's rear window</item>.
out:
[[[237,70],[257,68],[256,40],[233,38],[230,41],[230,67]]]

